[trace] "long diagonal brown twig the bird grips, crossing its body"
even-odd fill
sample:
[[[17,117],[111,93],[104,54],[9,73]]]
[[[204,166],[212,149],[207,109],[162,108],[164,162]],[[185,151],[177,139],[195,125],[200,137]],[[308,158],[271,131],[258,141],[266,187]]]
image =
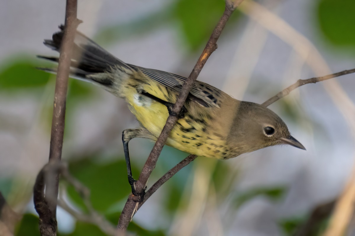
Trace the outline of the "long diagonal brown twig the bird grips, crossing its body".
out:
[[[189,94],[191,87],[193,85],[193,82],[197,79],[198,74],[200,74],[203,65],[206,63],[208,57],[212,54],[212,52],[217,48],[217,40],[222,33],[222,30],[228,21],[229,17],[235,10],[237,6],[242,2],[242,0],[236,0],[236,1],[230,1],[226,0],[226,6],[224,13],[222,17],[220,18],[217,26],[213,30],[213,33],[211,37],[209,38],[206,47],[204,48],[200,58],[198,59],[197,63],[195,64],[195,67],[193,68],[189,78],[185,81],[184,85],[182,86],[181,92],[179,94],[178,99],[176,100],[175,105],[173,106],[172,110],[175,112],[175,114],[179,114],[182,108],[182,105],[185,103],[185,100],[187,98],[187,95]],[[148,178],[150,174],[152,173],[158,157],[160,155],[160,152],[163,149],[163,146],[166,142],[166,139],[168,139],[168,136],[170,134],[171,129],[175,125],[176,121],[178,120],[177,116],[171,116],[169,115],[168,119],[166,120],[166,124],[162,130],[162,133],[160,133],[160,136],[157,139],[157,142],[155,143],[151,153],[149,154],[149,157],[142,169],[142,172],[140,174],[140,177],[136,183],[136,191],[137,193],[142,193],[143,189],[145,188]],[[137,202],[140,201],[140,196],[135,196],[135,195],[130,195],[127,199],[127,202],[122,210],[122,213],[120,215],[120,219],[118,222],[117,226],[117,234],[121,235],[124,234],[126,231],[131,218],[133,214],[136,211],[136,208],[138,206]]]

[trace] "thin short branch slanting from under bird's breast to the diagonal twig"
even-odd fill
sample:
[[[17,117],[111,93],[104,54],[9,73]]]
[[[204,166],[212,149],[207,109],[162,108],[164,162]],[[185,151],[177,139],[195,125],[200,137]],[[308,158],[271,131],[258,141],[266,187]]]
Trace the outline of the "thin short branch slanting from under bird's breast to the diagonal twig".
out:
[[[166,172],[155,184],[152,185],[151,188],[146,192],[144,195],[144,200],[139,203],[137,210],[143,205],[144,202],[148,200],[149,197],[152,196],[152,194],[157,191],[160,186],[162,186],[166,181],[168,181],[171,177],[174,176],[174,174],[178,173],[180,169],[184,168],[185,166],[189,165],[190,162],[196,159],[196,155],[189,155],[187,156],[184,160],[180,161],[178,165],[174,166],[173,168],[170,169],[170,171]]]

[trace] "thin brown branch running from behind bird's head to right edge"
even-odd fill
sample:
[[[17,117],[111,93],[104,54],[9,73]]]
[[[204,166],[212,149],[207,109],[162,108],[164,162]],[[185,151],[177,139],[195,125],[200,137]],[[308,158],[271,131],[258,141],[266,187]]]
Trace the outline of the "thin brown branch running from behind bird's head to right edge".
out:
[[[280,98],[283,98],[285,96],[287,96],[292,90],[294,90],[295,88],[298,88],[302,85],[305,84],[311,84],[311,83],[317,83],[323,80],[328,80],[328,79],[332,79],[338,76],[342,76],[342,75],[347,75],[347,74],[351,74],[351,73],[355,73],[355,69],[351,69],[351,70],[343,70],[340,71],[338,73],[334,73],[334,74],[330,74],[330,75],[324,75],[324,76],[320,76],[320,77],[313,77],[311,79],[306,79],[306,80],[297,80],[296,83],[294,83],[293,85],[290,85],[289,87],[285,88],[283,91],[279,92],[278,94],[276,94],[275,96],[273,96],[272,98],[268,99],[266,102],[264,102],[263,106],[267,107],[270,104],[276,102],[277,100],[279,100]]]

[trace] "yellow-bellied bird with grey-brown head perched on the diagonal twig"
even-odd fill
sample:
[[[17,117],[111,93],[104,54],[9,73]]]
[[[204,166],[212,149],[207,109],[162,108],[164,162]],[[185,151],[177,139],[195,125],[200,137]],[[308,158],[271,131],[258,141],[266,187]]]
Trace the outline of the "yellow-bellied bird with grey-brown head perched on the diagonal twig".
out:
[[[60,52],[64,26],[44,40]],[[58,62],[58,57],[38,56]],[[56,73],[56,68],[39,68]],[[230,159],[268,146],[288,144],[305,147],[291,136],[285,122],[272,110],[253,102],[240,101],[201,81],[195,81],[180,114],[173,114],[186,78],[161,70],[128,64],[113,56],[84,34],[76,31],[70,77],[102,87],[124,98],[140,127],[125,129],[122,142],[127,175],[135,191],[128,143],[132,138],[157,140],[169,114],[177,115],[166,145],[202,157]]]

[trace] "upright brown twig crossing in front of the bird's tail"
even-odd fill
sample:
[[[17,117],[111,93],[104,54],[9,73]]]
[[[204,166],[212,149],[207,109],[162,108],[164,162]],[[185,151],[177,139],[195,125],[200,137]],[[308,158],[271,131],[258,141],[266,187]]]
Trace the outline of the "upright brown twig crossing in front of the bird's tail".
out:
[[[63,43],[61,45],[58,73],[55,83],[54,92],[54,107],[53,107],[53,118],[52,118],[52,128],[50,136],[50,147],[49,147],[49,162],[61,160],[62,147],[63,147],[63,136],[64,136],[64,121],[65,121],[65,103],[66,94],[68,88],[68,77],[69,77],[69,67],[71,62],[72,46],[75,36],[75,31],[80,23],[76,18],[77,12],[77,0],[67,0],[66,10],[65,10],[65,27]],[[41,177],[41,176],[39,176]],[[43,176],[42,176],[43,178]],[[40,179],[43,180],[43,179]],[[40,228],[43,222],[53,223],[53,235],[56,235],[56,207],[57,207],[57,197],[59,188],[59,175],[49,176],[45,179],[45,198],[39,198],[37,200],[43,201],[41,208],[46,207],[48,209],[42,209],[42,213],[39,217]],[[44,182],[39,181],[43,186],[35,186],[34,189],[42,190],[44,188]],[[37,182],[37,183],[39,183]],[[39,204],[39,202],[37,202]],[[47,214],[48,213],[48,214]],[[51,216],[49,215],[51,214]],[[42,217],[48,217],[48,219],[43,219]]]

